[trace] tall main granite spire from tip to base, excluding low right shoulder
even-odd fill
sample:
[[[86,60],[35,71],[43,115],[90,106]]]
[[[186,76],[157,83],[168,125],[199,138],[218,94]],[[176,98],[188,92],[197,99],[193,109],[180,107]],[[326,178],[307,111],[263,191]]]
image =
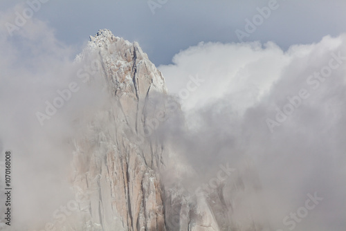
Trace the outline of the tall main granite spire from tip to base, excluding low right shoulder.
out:
[[[85,138],[75,140],[74,186],[88,195],[76,229],[165,230],[158,174],[163,147],[145,131],[158,111],[149,99],[166,93],[165,81],[138,44],[109,30],[91,37],[78,57],[92,58],[100,60],[111,107],[96,111]]]

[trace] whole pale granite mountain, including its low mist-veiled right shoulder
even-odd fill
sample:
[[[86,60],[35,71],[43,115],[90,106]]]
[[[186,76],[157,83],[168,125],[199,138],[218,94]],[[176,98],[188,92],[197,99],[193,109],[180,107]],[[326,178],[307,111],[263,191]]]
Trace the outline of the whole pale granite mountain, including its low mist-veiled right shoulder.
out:
[[[238,187],[244,188],[242,180],[199,196],[163,185],[160,172],[165,161],[174,165],[178,160],[168,158],[170,150],[159,139],[147,136],[165,120],[172,105],[165,100],[163,75],[138,44],[100,30],[77,57],[78,62],[92,59],[100,64],[97,77],[105,80],[109,107],[95,111],[84,138],[73,141],[73,188],[83,196],[78,201],[80,210],[62,227],[91,231],[260,230],[253,222],[246,226],[233,219],[237,192],[242,192]],[[232,177],[239,178],[237,174]]]

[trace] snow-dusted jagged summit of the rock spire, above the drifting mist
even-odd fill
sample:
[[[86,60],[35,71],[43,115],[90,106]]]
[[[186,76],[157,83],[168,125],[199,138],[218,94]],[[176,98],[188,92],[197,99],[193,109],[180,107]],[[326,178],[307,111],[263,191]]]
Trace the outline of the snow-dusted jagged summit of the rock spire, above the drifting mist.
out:
[[[104,64],[112,90],[121,92],[126,89],[135,93],[136,97],[146,95],[149,90],[167,92],[162,73],[150,62],[138,42],[131,43],[116,37],[107,29],[99,30],[94,37],[90,36],[88,45],[76,59],[81,61],[95,55]]]

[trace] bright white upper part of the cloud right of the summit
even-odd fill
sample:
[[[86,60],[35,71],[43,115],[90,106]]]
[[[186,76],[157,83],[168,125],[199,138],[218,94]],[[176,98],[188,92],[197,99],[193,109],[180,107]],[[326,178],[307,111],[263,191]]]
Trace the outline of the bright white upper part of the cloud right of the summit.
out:
[[[199,75],[205,82],[183,101],[191,109],[208,100],[230,94],[233,107],[240,111],[253,106],[273,82],[291,57],[272,42],[262,44],[200,43],[175,55],[174,64],[159,66],[172,93],[179,93],[189,75]],[[270,66],[270,68],[268,68]],[[246,99],[246,100],[245,100]]]

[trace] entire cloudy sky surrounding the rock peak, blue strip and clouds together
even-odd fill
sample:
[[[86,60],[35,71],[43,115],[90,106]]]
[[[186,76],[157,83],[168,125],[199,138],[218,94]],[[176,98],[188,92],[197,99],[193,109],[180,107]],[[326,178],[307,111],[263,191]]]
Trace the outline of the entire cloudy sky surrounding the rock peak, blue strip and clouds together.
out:
[[[104,100],[100,89],[81,85],[47,125],[35,113],[75,80],[73,58],[89,35],[108,28],[139,42],[170,93],[183,96],[193,86],[181,103],[194,129],[174,143],[188,150],[189,161],[198,159],[206,172],[233,161],[232,155],[251,156],[274,227],[282,228],[282,218],[318,192],[324,201],[295,231],[345,230],[346,1],[271,2],[168,0],[150,8],[146,0],[49,0],[10,36],[6,24],[14,24],[28,3],[1,1],[0,149],[13,149],[23,170],[17,172],[23,181],[17,205],[27,206],[17,211],[33,220],[26,214],[37,216],[36,201],[52,201],[50,195],[62,188],[52,182],[62,181],[69,166],[71,150],[63,144],[78,133],[73,119],[98,110]],[[270,15],[268,7],[275,8]],[[247,33],[244,43],[236,31]],[[198,78],[198,87],[189,85]],[[35,190],[42,185],[41,200]],[[50,202],[52,210],[67,197]]]

